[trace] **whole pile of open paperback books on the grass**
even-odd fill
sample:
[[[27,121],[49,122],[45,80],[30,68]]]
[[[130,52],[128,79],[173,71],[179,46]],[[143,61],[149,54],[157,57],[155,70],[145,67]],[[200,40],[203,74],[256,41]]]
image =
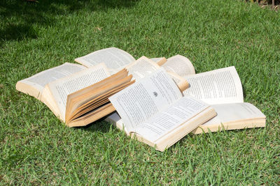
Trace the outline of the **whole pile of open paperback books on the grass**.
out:
[[[69,127],[87,125],[117,109],[106,120],[158,150],[190,131],[265,127],[265,115],[244,103],[233,66],[195,75],[185,56],[135,60],[116,47],[75,61],[84,66],[64,63],[20,80],[16,89],[44,102]]]

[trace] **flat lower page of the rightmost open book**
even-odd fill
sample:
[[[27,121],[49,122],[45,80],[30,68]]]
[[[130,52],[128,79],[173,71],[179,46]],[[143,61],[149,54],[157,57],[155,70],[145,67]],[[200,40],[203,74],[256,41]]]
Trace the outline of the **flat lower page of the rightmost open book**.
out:
[[[248,102],[231,104],[214,104],[211,107],[217,112],[217,116],[203,125],[218,125],[232,121],[248,120],[251,118],[265,118],[257,107]]]

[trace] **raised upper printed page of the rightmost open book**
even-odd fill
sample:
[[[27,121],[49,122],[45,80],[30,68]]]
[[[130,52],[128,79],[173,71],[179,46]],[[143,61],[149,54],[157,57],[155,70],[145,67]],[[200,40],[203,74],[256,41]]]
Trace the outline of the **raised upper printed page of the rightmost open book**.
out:
[[[184,95],[193,95],[208,104],[244,102],[241,82],[234,66],[185,78],[190,88],[183,92]]]

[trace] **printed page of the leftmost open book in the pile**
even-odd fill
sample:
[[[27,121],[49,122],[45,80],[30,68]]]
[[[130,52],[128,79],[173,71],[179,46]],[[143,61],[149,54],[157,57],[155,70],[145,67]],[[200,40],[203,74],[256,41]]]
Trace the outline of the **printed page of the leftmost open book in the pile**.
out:
[[[53,82],[57,79],[66,77],[68,75],[72,75],[73,73],[80,72],[84,69],[85,67],[83,65],[64,63],[63,65],[59,65],[55,68],[50,68],[48,70],[44,70],[43,72],[39,72],[38,74],[28,77],[27,79],[22,79],[19,83],[27,84],[36,89],[38,93],[37,95],[33,96],[37,98],[39,95],[42,94],[43,88],[46,84]],[[26,91],[28,93],[28,90]]]

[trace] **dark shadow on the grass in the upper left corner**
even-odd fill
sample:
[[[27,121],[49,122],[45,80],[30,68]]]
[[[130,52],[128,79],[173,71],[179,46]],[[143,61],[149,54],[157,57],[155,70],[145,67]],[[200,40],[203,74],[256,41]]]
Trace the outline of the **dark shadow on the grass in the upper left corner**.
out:
[[[57,15],[69,15],[78,10],[106,11],[111,8],[130,8],[138,0],[19,0],[0,1],[0,44],[7,40],[36,38],[35,25],[50,26]]]

